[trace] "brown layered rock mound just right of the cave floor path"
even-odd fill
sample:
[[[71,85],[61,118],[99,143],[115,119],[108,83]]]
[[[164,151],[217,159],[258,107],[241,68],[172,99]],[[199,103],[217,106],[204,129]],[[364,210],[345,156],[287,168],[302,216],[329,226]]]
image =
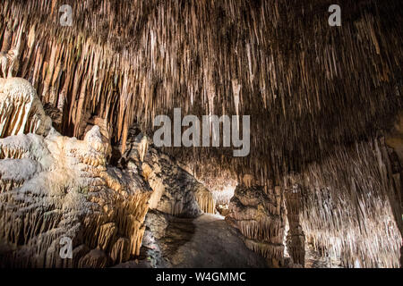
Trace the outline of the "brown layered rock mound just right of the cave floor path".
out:
[[[246,246],[266,257],[269,265],[282,265],[286,213],[279,187],[246,180],[236,187],[229,211],[227,223],[241,231]]]

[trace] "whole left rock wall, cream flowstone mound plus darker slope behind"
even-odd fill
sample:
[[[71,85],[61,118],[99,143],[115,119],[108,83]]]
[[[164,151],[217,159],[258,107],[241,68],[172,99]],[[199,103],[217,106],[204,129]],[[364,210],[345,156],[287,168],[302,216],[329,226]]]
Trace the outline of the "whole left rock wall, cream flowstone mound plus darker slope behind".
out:
[[[214,212],[210,191],[172,158],[149,150],[141,134],[127,142],[120,169],[107,165],[105,121],[89,119],[83,140],[61,136],[28,81],[0,84],[1,265],[116,265],[140,255],[150,204],[162,215]],[[159,229],[161,221],[152,215],[146,246],[167,228]],[[64,238],[73,241],[72,259],[60,257]]]

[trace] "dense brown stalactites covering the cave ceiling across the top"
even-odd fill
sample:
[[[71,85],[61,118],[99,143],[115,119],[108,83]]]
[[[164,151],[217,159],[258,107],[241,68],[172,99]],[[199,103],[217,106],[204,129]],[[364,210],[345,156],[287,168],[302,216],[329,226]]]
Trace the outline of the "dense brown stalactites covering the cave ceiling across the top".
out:
[[[64,4],[71,27],[60,22]],[[372,135],[401,104],[400,1],[339,1],[341,27],[329,26],[330,4],[4,0],[1,52],[6,73],[30,80],[63,114],[64,135],[81,138],[81,122],[98,116],[124,141],[133,122],[150,130],[156,114],[179,106],[252,115],[248,160],[227,148],[169,152],[262,173],[263,184]]]

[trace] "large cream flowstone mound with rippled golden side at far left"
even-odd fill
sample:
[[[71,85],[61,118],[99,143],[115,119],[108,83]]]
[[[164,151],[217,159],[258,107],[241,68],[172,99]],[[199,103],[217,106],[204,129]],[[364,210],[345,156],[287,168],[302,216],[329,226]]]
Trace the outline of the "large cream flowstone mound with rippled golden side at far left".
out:
[[[27,81],[0,83],[0,105],[26,111],[2,113],[2,135],[16,135],[0,139],[0,264],[103,267],[138,256],[152,192],[141,175],[107,166],[98,126],[83,140],[61,136]]]

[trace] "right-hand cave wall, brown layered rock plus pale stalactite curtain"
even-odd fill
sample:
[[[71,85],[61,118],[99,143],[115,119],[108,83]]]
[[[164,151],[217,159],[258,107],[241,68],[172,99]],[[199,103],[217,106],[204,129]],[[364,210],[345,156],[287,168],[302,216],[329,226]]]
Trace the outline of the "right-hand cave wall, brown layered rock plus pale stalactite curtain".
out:
[[[322,162],[307,164],[304,172],[284,176],[274,188],[270,181],[261,186],[252,175],[241,175],[227,222],[272,266],[284,265],[284,245],[292,258],[288,266],[304,266],[310,244],[343,267],[399,267],[400,122],[401,116],[386,139],[339,147]]]

